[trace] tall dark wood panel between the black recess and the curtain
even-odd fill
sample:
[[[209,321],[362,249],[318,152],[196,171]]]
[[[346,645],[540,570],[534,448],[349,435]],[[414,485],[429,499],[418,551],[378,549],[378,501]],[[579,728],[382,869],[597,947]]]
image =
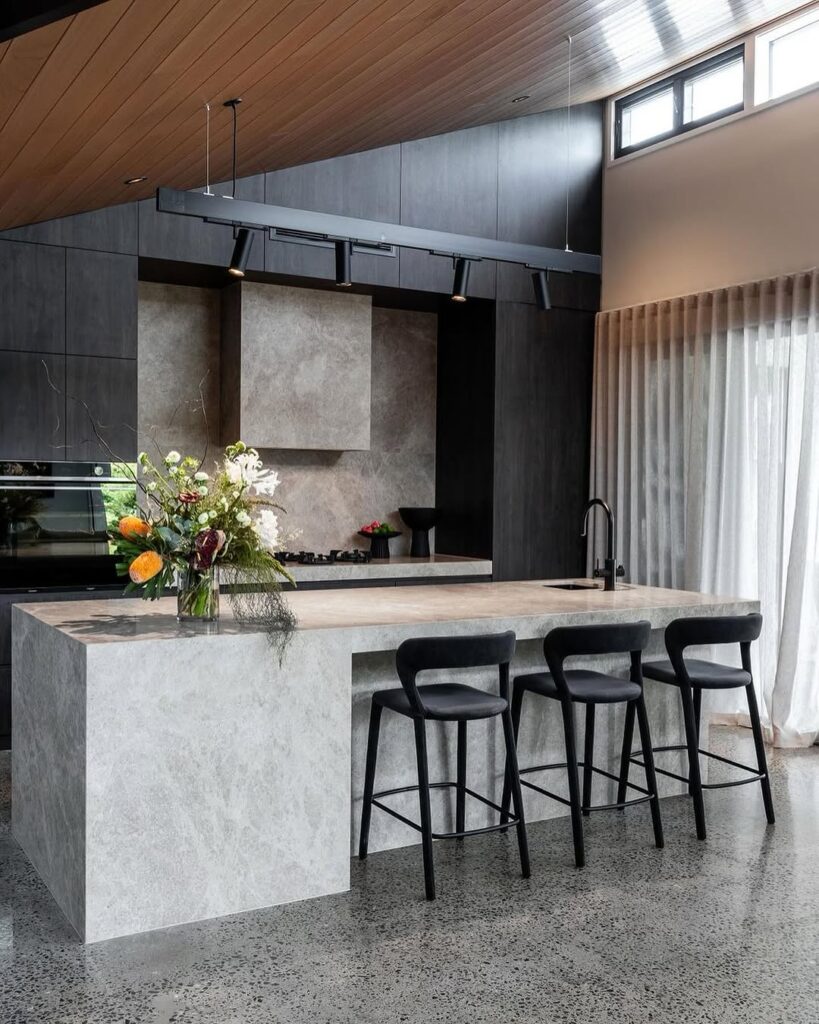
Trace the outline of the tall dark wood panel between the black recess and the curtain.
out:
[[[583,575],[594,314],[497,307],[494,574]]]

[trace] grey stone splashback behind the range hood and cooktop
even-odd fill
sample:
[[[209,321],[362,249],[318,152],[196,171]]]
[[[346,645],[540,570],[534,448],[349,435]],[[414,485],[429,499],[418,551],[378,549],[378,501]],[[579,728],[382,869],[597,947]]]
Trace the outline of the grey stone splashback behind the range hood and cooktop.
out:
[[[390,542],[393,555],[408,552],[410,531],[401,525],[398,508],[435,502],[436,350],[434,313],[373,307],[370,451],[262,453],[282,475],[276,500],[288,510],[281,517],[285,546],[367,548],[369,542],[356,530],[378,518],[403,529]],[[281,388],[287,372],[279,367],[277,373]],[[196,409],[203,379],[215,451],[220,421],[218,295],[213,289],[140,284],[141,447],[155,451],[154,438],[163,451],[205,450],[205,419]],[[321,409],[322,401],[314,408]],[[433,546],[434,537],[433,530]]]

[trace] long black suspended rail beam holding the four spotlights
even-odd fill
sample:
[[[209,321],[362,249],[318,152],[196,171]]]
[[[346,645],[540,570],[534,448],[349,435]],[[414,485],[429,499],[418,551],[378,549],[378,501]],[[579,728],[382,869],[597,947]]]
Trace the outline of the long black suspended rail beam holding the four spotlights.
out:
[[[556,270],[561,273],[599,274],[601,260],[592,253],[575,253],[563,249],[527,246],[518,242],[501,242],[471,234],[450,234],[426,227],[382,223],[342,217],[337,214],[295,210],[286,206],[269,206],[226,196],[207,196],[199,191],[177,188],[157,189],[157,209],[183,217],[267,230],[275,227],[285,231],[308,231],[328,241],[349,241],[353,244],[402,246],[422,249],[464,259],[491,259],[499,263],[516,263],[533,269]]]

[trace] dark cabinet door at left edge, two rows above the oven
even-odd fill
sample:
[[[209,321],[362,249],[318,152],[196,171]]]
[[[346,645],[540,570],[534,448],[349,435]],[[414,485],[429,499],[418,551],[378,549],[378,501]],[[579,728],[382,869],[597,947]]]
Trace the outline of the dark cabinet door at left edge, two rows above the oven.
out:
[[[64,249],[0,241],[0,348],[64,351]]]

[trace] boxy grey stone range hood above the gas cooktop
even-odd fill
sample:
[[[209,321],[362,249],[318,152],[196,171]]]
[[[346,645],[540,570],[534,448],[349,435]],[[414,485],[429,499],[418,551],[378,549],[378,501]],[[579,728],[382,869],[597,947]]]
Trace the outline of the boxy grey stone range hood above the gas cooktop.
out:
[[[222,291],[223,443],[369,451],[369,295],[236,282]]]

